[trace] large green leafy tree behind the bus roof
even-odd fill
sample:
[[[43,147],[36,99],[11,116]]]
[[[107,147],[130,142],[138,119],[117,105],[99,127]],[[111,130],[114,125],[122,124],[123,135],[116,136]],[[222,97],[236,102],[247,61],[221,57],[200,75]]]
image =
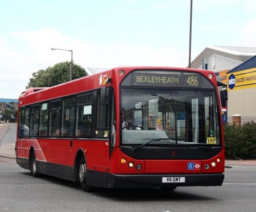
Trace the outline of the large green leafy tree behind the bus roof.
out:
[[[85,69],[80,65],[73,64],[72,79],[78,79],[87,75]],[[56,84],[68,82],[70,80],[70,62],[60,62],[46,70],[38,70],[32,73],[32,78],[26,86],[30,87],[52,87]]]

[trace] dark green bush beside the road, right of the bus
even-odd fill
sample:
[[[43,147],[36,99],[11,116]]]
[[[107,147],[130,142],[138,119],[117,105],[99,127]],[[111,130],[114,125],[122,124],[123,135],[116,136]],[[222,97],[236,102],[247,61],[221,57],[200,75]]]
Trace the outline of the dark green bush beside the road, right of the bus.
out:
[[[229,159],[249,159],[256,156],[256,123],[224,126],[225,155]]]

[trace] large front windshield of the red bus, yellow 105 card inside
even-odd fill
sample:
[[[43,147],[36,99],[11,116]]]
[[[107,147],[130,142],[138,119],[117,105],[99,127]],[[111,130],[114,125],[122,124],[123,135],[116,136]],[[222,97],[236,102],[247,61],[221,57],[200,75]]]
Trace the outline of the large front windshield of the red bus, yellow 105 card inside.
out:
[[[221,145],[216,91],[122,87],[121,95],[122,145]]]

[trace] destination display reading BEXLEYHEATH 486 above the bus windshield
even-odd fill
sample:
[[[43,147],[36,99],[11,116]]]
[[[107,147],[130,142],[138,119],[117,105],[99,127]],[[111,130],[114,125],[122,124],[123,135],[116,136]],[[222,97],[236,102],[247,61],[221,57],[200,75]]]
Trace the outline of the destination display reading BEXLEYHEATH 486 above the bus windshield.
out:
[[[159,86],[213,88],[204,75],[188,71],[134,71],[122,82],[122,86]]]

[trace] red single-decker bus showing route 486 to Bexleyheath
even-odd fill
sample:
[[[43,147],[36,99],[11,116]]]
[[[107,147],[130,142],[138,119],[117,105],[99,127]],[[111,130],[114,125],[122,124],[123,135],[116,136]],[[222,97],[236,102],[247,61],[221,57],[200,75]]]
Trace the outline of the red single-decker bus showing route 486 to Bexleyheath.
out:
[[[102,188],[218,186],[224,135],[212,71],[116,67],[19,97],[16,162]]]

